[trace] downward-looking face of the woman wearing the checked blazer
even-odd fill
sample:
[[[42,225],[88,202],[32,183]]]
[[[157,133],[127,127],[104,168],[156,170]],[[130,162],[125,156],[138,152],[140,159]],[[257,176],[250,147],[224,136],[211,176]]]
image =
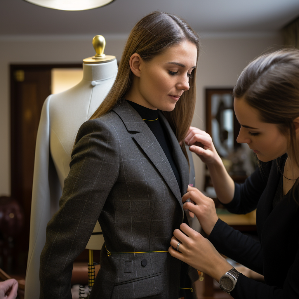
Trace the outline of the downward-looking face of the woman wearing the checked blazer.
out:
[[[172,111],[183,92],[189,89],[196,57],[196,45],[184,41],[169,47],[149,62],[140,60],[135,84],[138,99],[134,102],[151,109]]]

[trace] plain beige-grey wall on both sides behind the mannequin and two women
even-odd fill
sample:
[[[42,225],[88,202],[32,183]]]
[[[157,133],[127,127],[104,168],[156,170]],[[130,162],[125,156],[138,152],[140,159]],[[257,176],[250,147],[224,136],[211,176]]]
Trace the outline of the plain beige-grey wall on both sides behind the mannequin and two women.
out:
[[[0,196],[10,194],[10,63],[78,63],[93,56],[93,36],[0,36]],[[126,35],[105,35],[106,54],[120,59]],[[205,128],[206,87],[231,87],[245,65],[274,44],[276,34],[204,35],[197,76],[197,104],[193,125]],[[196,185],[202,186],[203,164],[194,157]]]

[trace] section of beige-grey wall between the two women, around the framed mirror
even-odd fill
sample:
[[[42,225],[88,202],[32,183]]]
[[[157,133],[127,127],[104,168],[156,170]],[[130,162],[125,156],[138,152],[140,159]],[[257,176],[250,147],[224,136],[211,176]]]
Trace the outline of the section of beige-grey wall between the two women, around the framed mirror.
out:
[[[205,88],[231,88],[252,59],[267,48],[283,43],[278,33],[202,34],[202,54],[197,67],[197,102],[193,126],[205,129]],[[276,46],[277,47],[277,46]],[[204,164],[193,155],[196,187],[203,187]]]

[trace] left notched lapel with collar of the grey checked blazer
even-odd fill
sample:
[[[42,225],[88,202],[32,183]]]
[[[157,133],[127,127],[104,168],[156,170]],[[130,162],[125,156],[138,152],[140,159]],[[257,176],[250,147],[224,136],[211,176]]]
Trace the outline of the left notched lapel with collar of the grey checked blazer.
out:
[[[141,149],[155,165],[161,176],[166,181],[170,190],[173,192],[174,196],[176,196],[178,199],[181,209],[183,210],[179,185],[176,181],[176,177],[173,174],[168,159],[164,154],[159,142],[155,138],[155,135],[142,120],[138,112],[125,100],[122,100],[113,109],[113,111],[122,119],[128,131],[135,132],[132,133],[132,138],[135,139]]]

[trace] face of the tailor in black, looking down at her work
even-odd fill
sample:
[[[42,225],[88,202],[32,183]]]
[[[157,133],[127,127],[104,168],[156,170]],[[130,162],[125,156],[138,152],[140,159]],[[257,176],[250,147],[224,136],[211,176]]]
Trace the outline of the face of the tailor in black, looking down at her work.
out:
[[[260,161],[271,161],[287,152],[287,137],[276,124],[262,122],[258,110],[243,98],[235,98],[234,110],[241,125],[237,142],[247,143]]]

